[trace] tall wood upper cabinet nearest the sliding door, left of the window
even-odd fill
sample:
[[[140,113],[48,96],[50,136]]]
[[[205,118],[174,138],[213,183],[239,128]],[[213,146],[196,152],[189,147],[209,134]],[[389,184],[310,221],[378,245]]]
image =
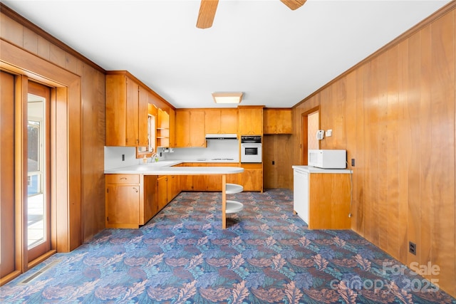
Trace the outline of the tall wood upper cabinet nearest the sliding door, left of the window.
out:
[[[106,77],[106,145],[147,146],[147,89],[128,72]]]

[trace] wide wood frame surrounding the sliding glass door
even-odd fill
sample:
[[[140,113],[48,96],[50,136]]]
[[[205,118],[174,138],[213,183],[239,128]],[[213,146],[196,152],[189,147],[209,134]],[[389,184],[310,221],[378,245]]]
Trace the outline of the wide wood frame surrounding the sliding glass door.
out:
[[[21,89],[16,90],[15,97],[21,107],[26,100],[24,83],[28,78],[55,88],[54,93],[51,93],[51,217],[55,219],[56,225],[51,230],[51,246],[56,248],[57,252],[70,252],[82,243],[81,77],[4,40],[0,40],[0,56],[0,69],[16,75],[16,85],[19,85],[17,88]],[[26,117],[19,119],[21,124],[26,122]],[[20,149],[15,153],[24,154],[26,146],[22,140],[16,141]],[[26,176],[26,167],[17,168],[15,172],[18,171],[22,176]],[[15,203],[16,229],[21,229],[18,230],[21,231],[19,238],[24,239],[21,227],[24,227],[26,219],[18,216],[23,214],[21,209],[24,208],[18,200],[26,195],[26,184],[16,184],[15,187],[15,193],[20,194]],[[18,243],[23,242],[16,240],[18,256],[15,271],[0,278],[0,285],[33,266],[26,262],[24,247],[18,246]]]

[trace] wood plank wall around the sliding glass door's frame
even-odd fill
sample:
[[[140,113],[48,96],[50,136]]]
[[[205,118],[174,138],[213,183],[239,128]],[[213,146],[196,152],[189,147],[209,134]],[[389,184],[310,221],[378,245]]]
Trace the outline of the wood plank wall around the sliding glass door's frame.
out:
[[[2,39],[81,77],[81,104],[71,107],[81,109],[82,157],[76,159],[74,165],[81,166],[82,176],[71,177],[71,180],[80,179],[81,183],[81,194],[76,194],[81,196],[78,199],[81,206],[76,206],[81,209],[81,215],[76,216],[81,216],[82,231],[79,235],[85,241],[105,228],[105,75],[103,70],[81,61],[33,31],[33,26],[28,28],[3,13],[0,21]]]

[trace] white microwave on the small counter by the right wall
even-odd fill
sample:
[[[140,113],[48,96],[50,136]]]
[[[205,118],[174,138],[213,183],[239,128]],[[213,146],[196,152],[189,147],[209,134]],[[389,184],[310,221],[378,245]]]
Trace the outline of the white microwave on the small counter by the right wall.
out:
[[[309,150],[308,164],[322,169],[346,169],[347,150]]]

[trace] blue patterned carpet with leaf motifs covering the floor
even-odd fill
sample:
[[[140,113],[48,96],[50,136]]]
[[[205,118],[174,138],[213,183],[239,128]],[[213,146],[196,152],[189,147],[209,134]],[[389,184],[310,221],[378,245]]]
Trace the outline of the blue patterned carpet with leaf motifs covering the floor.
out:
[[[141,229],[106,229],[1,287],[1,303],[455,303],[353,231],[311,231],[292,192],[184,192]],[[48,267],[29,283],[26,278]]]

